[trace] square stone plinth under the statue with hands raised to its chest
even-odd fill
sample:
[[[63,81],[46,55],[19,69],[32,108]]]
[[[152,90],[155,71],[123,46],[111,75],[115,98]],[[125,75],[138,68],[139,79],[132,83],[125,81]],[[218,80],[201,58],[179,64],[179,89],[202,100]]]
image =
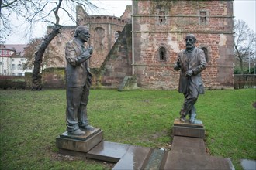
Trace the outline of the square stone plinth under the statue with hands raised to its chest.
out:
[[[63,134],[64,135],[64,134]],[[82,138],[81,136],[79,138]],[[56,145],[57,148],[67,149],[71,151],[81,151],[81,152],[88,152],[91,150],[95,145],[99,144],[103,140],[103,131],[100,130],[94,134],[90,134],[90,136],[86,139],[74,139],[74,138],[67,138],[66,137],[57,137],[56,138]]]

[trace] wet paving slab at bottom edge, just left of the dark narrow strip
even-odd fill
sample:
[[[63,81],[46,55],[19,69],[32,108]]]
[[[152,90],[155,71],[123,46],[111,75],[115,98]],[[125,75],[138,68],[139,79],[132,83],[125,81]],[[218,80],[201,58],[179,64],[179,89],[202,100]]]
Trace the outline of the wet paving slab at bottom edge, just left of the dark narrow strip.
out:
[[[151,151],[151,148],[131,146],[112,170],[142,169],[147,163]]]

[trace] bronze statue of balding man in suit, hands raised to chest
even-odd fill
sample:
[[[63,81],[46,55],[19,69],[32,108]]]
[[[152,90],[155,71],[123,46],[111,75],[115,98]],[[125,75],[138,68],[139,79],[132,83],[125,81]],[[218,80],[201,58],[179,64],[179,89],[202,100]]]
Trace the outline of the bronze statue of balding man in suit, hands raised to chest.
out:
[[[78,26],[74,39],[67,42],[65,48],[67,110],[66,121],[68,134],[84,135],[94,128],[88,124],[87,104],[92,74],[88,59],[92,56],[92,47],[85,48],[90,34],[86,26]]]

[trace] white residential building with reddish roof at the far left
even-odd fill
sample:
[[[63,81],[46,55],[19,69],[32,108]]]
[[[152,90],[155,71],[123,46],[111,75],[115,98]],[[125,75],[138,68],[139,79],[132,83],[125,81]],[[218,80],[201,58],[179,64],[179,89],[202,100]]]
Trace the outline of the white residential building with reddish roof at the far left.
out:
[[[26,44],[6,44],[0,45],[0,75],[2,76],[25,76],[23,63],[26,58],[23,56]]]

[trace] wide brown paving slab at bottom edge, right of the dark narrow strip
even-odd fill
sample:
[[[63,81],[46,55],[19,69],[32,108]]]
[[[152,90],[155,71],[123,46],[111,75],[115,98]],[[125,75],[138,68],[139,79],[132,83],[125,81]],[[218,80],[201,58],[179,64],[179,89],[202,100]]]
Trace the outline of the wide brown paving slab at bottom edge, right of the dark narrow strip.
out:
[[[170,151],[166,161],[161,166],[163,169],[189,169],[189,170],[206,170],[206,169],[230,169],[234,166],[229,158],[219,158],[207,155],[195,155],[187,153],[176,153]]]

